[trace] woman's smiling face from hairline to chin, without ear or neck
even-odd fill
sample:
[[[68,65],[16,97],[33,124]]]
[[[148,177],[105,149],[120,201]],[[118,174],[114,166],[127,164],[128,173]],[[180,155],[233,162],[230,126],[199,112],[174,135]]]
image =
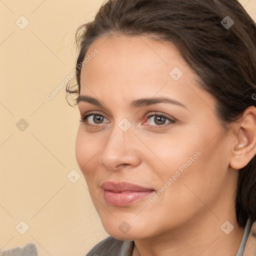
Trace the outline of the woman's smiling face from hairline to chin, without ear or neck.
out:
[[[100,37],[86,57],[78,107],[89,116],[76,159],[105,230],[133,240],[204,217],[223,223],[237,179],[230,138],[177,49],[144,36]]]

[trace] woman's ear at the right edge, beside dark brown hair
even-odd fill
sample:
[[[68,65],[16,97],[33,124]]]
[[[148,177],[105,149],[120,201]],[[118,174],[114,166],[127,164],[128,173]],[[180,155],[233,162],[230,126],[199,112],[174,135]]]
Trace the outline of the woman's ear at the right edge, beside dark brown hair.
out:
[[[256,154],[256,108],[249,106],[234,127],[234,140],[229,165],[240,169]]]

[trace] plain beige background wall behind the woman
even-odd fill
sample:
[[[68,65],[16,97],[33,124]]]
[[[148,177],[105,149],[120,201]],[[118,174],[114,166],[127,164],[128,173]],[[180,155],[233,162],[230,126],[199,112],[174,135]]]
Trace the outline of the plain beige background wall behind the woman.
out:
[[[256,20],[256,0],[240,2]],[[0,250],[33,242],[40,256],[83,256],[108,235],[75,159],[78,109],[65,88],[46,97],[75,65],[76,28],[102,3],[0,0]]]

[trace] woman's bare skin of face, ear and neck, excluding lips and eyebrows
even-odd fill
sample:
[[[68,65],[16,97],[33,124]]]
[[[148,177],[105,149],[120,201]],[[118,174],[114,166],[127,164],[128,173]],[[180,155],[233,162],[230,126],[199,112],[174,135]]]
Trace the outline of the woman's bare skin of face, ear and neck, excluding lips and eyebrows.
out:
[[[104,107],[80,101],[78,108],[81,117],[96,111],[104,118],[80,123],[75,151],[104,229],[117,239],[134,240],[133,256],[235,255],[244,231],[235,217],[236,182],[238,169],[255,155],[255,108],[224,132],[214,98],[199,88],[198,77],[172,44],[112,35],[96,39],[87,53],[95,48],[98,54],[81,69],[80,95]],[[183,73],[176,81],[169,75],[174,67]],[[158,96],[185,107],[129,106],[134,99]],[[155,116],[145,116],[155,112],[175,122],[163,119],[159,125]],[[125,132],[118,127],[123,118],[131,123]],[[120,207],[104,200],[102,182],[157,191],[197,151],[200,156],[154,202],[146,197]],[[227,220],[234,226],[229,234],[220,228]],[[118,228],[123,221],[130,226],[127,233]]]

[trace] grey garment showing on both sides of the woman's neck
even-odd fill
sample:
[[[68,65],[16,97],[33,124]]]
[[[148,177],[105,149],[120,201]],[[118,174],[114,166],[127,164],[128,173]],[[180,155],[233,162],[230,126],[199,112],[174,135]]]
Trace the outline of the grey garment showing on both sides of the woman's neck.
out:
[[[247,219],[243,237],[236,256],[242,256],[246,241],[250,232],[252,221]],[[121,241],[112,236],[106,237],[104,240],[97,243],[86,256],[131,256],[134,247],[134,241]]]

